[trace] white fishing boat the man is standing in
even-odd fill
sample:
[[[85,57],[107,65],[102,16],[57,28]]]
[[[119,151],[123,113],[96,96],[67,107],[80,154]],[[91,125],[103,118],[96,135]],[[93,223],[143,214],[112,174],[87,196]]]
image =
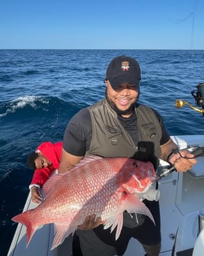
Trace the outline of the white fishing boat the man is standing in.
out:
[[[202,84],[202,89],[204,84]],[[198,87],[199,88],[199,87]],[[197,96],[196,96],[197,97]],[[182,107],[186,102],[176,102]],[[187,104],[188,105],[188,104]],[[202,109],[199,112],[204,113]],[[192,106],[190,105],[192,108]],[[196,110],[195,107],[192,109]],[[161,253],[160,256],[202,256],[204,255],[204,134],[171,136],[179,149],[188,148],[197,152],[197,164],[185,173],[172,171],[170,165],[160,160],[158,167],[158,190],[161,192]],[[199,153],[198,153],[199,152]],[[165,173],[165,175],[161,175]],[[24,211],[37,204],[31,201],[30,193]],[[72,235],[65,238],[62,245],[50,250],[53,242],[53,224],[37,229],[26,248],[26,227],[18,224],[8,256],[71,256]],[[135,239],[123,256],[144,256],[142,245]]]

